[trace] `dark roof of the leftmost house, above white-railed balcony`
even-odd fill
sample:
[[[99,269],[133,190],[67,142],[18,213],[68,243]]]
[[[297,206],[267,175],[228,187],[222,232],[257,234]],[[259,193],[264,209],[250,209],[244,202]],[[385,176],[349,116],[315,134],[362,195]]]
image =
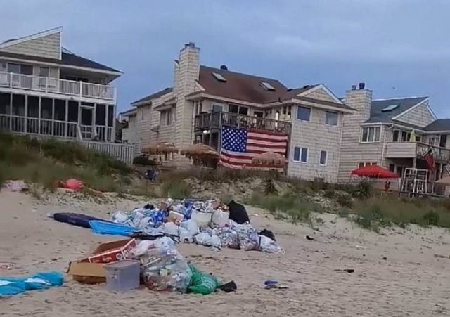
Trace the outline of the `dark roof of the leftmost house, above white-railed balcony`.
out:
[[[89,60],[82,56],[77,56],[73,53],[72,54],[66,53],[64,51],[61,53],[61,60],[54,59],[54,58],[44,58],[44,57],[39,57],[39,56],[27,56],[27,55],[23,55],[23,54],[8,53],[8,52],[2,52],[2,51],[0,51],[0,56],[9,57],[9,58],[18,58],[21,60],[36,60],[37,62],[46,62],[46,63],[60,64],[60,65],[70,65],[70,66],[77,66],[77,67],[93,68],[95,70],[105,70],[108,72],[120,72],[120,70],[115,70],[114,68],[94,62],[94,60]]]

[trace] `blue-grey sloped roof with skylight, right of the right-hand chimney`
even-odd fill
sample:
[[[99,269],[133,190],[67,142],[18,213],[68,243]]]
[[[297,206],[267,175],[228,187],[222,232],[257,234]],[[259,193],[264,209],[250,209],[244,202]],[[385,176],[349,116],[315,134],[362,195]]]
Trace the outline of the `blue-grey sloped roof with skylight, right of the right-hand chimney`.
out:
[[[413,106],[425,101],[428,97],[410,97],[410,98],[392,98],[392,99],[378,99],[371,103],[371,117],[366,123],[385,123],[391,122],[393,117],[400,115],[402,112],[413,108]],[[383,112],[383,109],[390,105],[399,105],[390,111]]]

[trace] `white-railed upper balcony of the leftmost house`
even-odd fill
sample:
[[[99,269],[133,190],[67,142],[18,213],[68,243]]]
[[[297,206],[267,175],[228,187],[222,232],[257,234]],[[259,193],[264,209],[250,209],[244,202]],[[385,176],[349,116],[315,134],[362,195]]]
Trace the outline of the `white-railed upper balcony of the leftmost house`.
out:
[[[14,89],[22,89],[107,101],[116,100],[116,89],[113,86],[75,82],[59,78],[21,75],[12,72],[0,72],[1,88],[11,89],[11,91]]]

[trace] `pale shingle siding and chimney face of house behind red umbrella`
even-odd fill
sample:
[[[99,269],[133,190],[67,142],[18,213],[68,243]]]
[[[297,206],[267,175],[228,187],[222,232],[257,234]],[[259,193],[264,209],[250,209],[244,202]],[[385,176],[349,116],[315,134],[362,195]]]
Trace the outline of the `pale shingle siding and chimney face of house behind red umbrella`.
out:
[[[371,101],[372,91],[369,90],[347,91],[347,95],[345,96],[345,103],[358,111],[345,115],[343,120],[338,175],[338,181],[341,183],[350,180],[350,172],[358,167],[359,162],[385,164],[383,162],[385,127],[381,128],[380,143],[359,142],[361,123],[365,122],[370,115]]]

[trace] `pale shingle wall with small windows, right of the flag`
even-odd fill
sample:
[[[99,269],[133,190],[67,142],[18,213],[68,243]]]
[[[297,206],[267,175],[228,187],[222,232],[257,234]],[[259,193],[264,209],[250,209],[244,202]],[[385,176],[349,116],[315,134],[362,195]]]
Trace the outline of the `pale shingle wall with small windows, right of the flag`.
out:
[[[293,114],[297,107],[293,107]],[[288,176],[314,180],[316,177],[335,183],[338,180],[339,144],[342,129],[342,114],[339,114],[338,125],[325,124],[326,111],[311,108],[310,122],[293,119],[293,131],[290,141],[290,157]],[[308,162],[294,162],[294,148],[308,148]],[[327,164],[321,166],[319,157],[321,150],[327,152]]]

